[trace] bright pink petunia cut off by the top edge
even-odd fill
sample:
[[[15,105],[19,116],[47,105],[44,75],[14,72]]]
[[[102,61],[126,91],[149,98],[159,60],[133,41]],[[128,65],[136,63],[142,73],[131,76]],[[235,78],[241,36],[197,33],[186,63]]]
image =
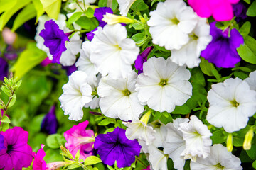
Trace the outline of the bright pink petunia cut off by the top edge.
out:
[[[213,16],[215,21],[229,21],[234,17],[232,4],[239,0],[188,0],[198,16],[208,18]]]

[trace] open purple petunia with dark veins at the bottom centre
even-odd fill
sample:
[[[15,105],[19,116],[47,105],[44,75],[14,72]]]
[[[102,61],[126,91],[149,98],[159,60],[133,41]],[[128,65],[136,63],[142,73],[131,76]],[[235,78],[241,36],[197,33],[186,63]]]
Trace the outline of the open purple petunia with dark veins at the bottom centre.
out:
[[[97,135],[94,146],[104,164],[112,166],[117,161],[119,168],[131,166],[142,148],[137,140],[128,140],[125,130],[119,127],[113,132]]]

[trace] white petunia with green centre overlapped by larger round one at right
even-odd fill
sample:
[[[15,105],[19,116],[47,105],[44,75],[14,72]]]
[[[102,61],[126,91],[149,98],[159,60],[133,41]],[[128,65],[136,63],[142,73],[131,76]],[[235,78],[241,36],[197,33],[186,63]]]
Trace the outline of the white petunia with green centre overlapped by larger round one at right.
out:
[[[97,89],[100,109],[104,115],[121,120],[138,120],[144,106],[139,103],[135,91],[137,74],[133,71],[126,78],[102,77]]]

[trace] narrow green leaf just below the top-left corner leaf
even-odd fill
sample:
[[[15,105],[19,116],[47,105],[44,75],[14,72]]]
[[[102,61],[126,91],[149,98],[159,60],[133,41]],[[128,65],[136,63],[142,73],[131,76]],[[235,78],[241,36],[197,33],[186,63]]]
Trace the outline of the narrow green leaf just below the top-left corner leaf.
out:
[[[18,27],[20,27],[23,23],[34,18],[36,16],[36,8],[33,4],[28,4],[25,8],[22,9],[18,16],[14,20],[14,25],[11,28],[11,31],[15,31]]]

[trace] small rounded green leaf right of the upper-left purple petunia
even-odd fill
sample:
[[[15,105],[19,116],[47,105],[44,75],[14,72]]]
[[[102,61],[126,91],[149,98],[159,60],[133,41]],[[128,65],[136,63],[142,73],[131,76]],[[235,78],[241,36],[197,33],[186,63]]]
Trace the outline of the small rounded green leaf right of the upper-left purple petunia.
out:
[[[99,26],[99,23],[96,18],[88,18],[87,16],[80,17],[75,23],[78,26],[84,28],[85,30],[91,31]]]

